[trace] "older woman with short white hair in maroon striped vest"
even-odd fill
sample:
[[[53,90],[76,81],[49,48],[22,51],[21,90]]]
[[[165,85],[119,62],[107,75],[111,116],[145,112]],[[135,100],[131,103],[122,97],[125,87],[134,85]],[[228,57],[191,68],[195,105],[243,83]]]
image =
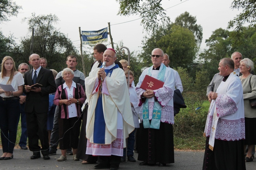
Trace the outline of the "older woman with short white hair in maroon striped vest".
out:
[[[85,93],[80,84],[73,82],[74,72],[71,69],[63,69],[61,76],[65,83],[57,88],[53,101],[55,105],[59,106],[58,124],[61,156],[57,160],[67,160],[66,152],[70,147],[73,149],[73,159],[79,160],[76,158],[76,152],[82,119],[81,106],[85,102]]]

